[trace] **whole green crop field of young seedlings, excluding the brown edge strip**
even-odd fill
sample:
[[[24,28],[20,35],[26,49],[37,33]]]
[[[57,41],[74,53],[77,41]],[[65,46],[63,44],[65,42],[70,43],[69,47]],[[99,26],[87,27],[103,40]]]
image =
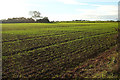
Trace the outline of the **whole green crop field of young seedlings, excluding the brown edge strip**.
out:
[[[118,23],[2,24],[3,78],[56,78],[116,45]]]

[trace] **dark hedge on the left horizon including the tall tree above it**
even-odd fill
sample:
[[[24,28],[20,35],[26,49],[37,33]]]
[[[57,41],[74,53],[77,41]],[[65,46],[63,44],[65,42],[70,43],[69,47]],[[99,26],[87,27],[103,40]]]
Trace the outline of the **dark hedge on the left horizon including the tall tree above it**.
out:
[[[2,23],[50,23],[48,17],[40,16],[39,11],[30,11],[31,18],[18,17],[0,20]]]

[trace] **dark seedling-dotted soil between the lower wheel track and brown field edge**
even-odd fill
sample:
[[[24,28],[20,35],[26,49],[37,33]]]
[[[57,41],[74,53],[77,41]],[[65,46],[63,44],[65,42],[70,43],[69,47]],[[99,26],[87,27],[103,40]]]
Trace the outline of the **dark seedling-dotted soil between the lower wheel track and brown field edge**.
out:
[[[6,68],[3,68],[4,77],[13,77],[17,74],[22,77],[32,77],[35,75],[39,77],[54,77],[113,45],[115,45],[114,35],[104,35],[27,51],[18,57],[13,55],[13,62],[7,65],[9,66],[9,72],[4,73]],[[8,64],[8,60],[3,63],[4,67]],[[15,69],[15,65],[18,64],[21,65],[19,66],[20,68]]]

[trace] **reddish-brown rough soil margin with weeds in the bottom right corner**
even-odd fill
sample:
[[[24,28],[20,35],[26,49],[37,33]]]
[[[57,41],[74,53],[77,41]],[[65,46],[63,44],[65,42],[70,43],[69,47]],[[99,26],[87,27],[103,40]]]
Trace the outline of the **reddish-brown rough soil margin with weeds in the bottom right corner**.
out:
[[[73,70],[67,71],[62,78],[116,78],[117,75],[112,74],[118,69],[116,48],[115,46]]]

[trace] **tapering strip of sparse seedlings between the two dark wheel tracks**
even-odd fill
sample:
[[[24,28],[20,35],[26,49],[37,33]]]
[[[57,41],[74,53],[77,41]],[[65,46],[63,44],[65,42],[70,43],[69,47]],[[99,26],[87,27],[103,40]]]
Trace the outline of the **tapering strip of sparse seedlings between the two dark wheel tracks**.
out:
[[[101,33],[106,34],[106,33]],[[96,34],[96,35],[101,35]],[[109,33],[110,34],[110,33]],[[50,46],[54,44],[59,44],[67,41],[72,41],[76,39],[85,38],[88,36],[93,36],[94,33],[71,33],[71,34],[64,34],[64,35],[56,35],[56,36],[48,36],[48,37],[41,37],[41,38],[35,38],[35,39],[27,39],[22,41],[16,41],[16,42],[7,42],[3,43],[3,55],[12,55],[21,53],[24,51],[29,51],[37,48],[42,48],[45,46]]]

